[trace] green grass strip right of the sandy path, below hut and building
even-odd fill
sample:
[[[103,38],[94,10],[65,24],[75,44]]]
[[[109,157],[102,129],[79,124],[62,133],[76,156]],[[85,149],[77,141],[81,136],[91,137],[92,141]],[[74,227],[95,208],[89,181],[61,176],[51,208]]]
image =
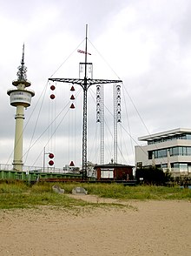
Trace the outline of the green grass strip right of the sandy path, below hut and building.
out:
[[[71,192],[77,184],[61,185],[65,192]],[[79,186],[79,184],[78,184]],[[82,184],[89,194],[95,194],[102,198],[113,199],[191,199],[191,190],[182,189],[179,186],[166,187],[155,185],[124,186],[119,184]]]

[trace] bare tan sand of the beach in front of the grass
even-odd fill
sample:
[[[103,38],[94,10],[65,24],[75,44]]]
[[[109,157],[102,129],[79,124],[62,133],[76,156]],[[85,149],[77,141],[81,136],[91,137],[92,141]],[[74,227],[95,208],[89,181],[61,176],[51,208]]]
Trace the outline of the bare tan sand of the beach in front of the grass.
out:
[[[0,210],[0,255],[191,255],[191,202],[113,202],[129,206]]]

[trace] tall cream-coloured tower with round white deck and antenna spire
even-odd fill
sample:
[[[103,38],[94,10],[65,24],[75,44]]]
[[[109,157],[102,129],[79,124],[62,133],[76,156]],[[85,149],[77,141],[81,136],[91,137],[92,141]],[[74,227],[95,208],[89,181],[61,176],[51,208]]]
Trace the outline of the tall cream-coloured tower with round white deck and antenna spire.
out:
[[[31,98],[35,95],[34,91],[26,89],[30,86],[30,81],[26,76],[27,68],[24,65],[24,45],[23,45],[23,57],[21,65],[18,67],[17,80],[14,80],[12,84],[16,86],[16,89],[10,89],[7,94],[10,96],[10,104],[16,107],[16,130],[15,130],[15,146],[14,146],[14,159],[13,169],[16,171],[23,171],[23,119],[24,108],[27,108],[31,104]]]

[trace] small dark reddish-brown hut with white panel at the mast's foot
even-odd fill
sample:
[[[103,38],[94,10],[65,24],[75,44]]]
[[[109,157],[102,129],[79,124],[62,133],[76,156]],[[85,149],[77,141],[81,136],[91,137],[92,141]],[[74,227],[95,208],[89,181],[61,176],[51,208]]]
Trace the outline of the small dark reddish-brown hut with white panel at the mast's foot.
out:
[[[134,167],[109,163],[107,165],[95,165],[94,169],[97,180],[132,180]]]

